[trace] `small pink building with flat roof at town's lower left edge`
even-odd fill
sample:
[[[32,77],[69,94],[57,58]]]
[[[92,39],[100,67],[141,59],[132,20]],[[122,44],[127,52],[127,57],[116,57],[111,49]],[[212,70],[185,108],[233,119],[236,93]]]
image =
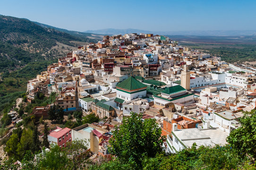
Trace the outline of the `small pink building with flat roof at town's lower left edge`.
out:
[[[51,130],[48,135],[48,140],[50,144],[58,144],[60,147],[65,147],[67,142],[71,142],[71,129],[68,127],[61,128],[56,127],[56,129]]]

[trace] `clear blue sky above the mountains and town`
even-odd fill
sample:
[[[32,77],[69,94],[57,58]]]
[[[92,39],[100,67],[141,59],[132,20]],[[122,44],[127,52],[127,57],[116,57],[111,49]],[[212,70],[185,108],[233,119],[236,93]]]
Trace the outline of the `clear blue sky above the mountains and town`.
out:
[[[256,30],[256,0],[0,0],[0,14],[68,30]]]

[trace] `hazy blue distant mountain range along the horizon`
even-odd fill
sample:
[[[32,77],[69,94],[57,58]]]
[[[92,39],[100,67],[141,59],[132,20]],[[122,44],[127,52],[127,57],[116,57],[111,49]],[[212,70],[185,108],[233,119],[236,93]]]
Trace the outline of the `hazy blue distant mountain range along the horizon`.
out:
[[[128,34],[128,33],[145,33],[145,34],[159,34],[159,35],[196,35],[196,36],[239,36],[239,35],[256,35],[256,30],[216,30],[216,31],[146,31],[140,29],[100,29],[88,30],[84,33],[94,34]]]

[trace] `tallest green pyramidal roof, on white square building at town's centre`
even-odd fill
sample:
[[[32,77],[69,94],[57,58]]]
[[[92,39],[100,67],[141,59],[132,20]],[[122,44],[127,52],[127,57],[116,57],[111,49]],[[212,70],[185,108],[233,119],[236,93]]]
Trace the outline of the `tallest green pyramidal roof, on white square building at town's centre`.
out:
[[[128,79],[117,84],[116,87],[123,88],[126,90],[136,90],[147,86],[141,83],[140,81],[136,80],[132,76],[129,76]]]

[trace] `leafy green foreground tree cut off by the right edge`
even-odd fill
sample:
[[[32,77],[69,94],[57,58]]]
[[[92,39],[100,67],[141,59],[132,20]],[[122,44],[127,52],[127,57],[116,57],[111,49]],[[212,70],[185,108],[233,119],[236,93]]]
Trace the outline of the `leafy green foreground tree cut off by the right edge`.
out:
[[[256,110],[244,112],[240,119],[241,127],[231,131],[227,142],[240,156],[256,159]]]

